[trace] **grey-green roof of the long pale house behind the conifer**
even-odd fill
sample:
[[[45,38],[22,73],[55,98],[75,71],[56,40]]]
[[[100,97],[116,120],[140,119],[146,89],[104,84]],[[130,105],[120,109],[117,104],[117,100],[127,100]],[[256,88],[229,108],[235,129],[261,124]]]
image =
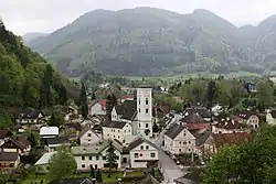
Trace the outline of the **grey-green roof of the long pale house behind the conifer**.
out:
[[[123,147],[115,141],[102,141],[91,145],[72,147],[71,151],[73,155],[97,155],[110,143],[116,150],[123,152]]]

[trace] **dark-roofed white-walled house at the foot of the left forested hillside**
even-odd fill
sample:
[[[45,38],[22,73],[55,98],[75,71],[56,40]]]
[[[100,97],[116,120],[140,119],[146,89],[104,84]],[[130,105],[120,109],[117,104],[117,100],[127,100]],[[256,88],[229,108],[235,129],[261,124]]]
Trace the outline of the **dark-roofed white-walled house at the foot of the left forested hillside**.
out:
[[[45,117],[43,111],[29,109],[24,112],[20,112],[15,121],[20,125],[36,125],[42,122],[43,117]]]

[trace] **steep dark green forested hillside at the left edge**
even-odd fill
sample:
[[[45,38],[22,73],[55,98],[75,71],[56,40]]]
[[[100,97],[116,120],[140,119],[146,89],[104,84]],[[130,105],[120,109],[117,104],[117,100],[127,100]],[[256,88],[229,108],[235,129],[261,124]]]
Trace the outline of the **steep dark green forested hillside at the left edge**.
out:
[[[6,30],[3,22],[0,22],[0,82],[1,109],[44,108],[77,96],[73,85],[25,47],[21,37]]]

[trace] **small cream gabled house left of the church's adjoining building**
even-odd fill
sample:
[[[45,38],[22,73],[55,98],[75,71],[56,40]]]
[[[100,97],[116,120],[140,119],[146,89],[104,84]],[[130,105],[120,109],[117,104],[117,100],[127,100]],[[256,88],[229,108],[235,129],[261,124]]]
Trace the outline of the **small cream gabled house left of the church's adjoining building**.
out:
[[[100,141],[100,137],[89,127],[83,129],[78,134],[81,145],[95,144]]]

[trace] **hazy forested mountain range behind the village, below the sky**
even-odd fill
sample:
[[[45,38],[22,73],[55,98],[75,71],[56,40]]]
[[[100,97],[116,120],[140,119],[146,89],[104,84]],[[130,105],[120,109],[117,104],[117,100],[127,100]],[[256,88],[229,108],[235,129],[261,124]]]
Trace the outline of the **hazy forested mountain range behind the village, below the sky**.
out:
[[[226,74],[272,69],[275,17],[237,28],[216,14],[136,8],[95,10],[42,40],[28,42],[68,76]],[[268,58],[267,58],[268,57]],[[275,61],[276,63],[276,61]]]

